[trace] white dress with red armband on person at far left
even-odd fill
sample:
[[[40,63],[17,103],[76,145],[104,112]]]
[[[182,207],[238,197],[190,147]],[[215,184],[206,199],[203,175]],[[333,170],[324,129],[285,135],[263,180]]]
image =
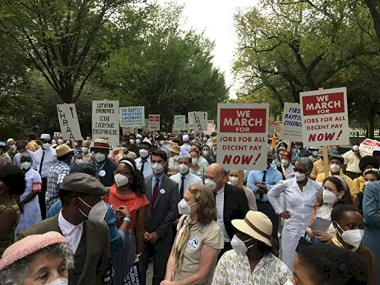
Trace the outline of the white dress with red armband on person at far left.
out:
[[[20,201],[23,201],[31,192],[41,192],[42,180],[36,170],[30,168],[25,173],[25,192],[20,196]],[[33,227],[38,222],[41,222],[41,209],[38,202],[38,196],[34,197],[30,202],[23,205],[23,213],[20,215],[19,225],[16,227],[16,234],[24,229]]]

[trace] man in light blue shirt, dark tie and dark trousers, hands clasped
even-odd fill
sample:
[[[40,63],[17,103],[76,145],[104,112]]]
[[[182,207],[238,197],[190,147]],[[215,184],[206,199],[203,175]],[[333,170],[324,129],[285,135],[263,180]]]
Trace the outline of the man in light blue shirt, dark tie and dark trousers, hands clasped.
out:
[[[283,180],[281,172],[270,166],[274,159],[273,153],[269,151],[267,156],[267,168],[265,170],[252,170],[248,175],[247,186],[255,193],[258,211],[266,214],[272,222],[273,237],[278,240],[277,233],[280,218],[278,214],[275,213],[267,196],[268,192],[270,192],[278,182]]]

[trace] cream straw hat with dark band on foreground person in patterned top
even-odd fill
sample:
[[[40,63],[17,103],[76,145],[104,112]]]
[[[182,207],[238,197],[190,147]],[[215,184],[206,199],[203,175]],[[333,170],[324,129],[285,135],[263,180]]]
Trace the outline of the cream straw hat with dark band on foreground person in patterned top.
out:
[[[258,211],[248,211],[244,219],[233,219],[232,225],[239,231],[272,247],[270,237],[273,231],[272,222],[266,214]]]

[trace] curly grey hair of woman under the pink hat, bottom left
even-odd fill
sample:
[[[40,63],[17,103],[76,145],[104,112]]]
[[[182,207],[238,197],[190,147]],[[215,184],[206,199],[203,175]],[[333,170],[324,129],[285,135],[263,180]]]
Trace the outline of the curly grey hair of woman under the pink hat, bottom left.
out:
[[[74,268],[74,254],[70,246],[63,243],[52,244],[2,269],[0,271],[0,284],[23,285],[23,281],[30,272],[31,262],[36,257],[36,254],[41,253],[45,254],[47,257],[62,257],[65,261],[65,266],[68,269]]]

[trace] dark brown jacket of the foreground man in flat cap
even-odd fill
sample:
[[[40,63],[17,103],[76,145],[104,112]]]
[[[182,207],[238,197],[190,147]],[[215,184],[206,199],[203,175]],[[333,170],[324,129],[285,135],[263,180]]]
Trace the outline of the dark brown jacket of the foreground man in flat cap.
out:
[[[52,231],[62,234],[58,227],[58,214],[20,232],[17,239],[23,239],[32,234],[45,234]],[[78,285],[102,284],[102,274],[104,274],[110,260],[110,234],[108,233],[107,224],[105,222],[90,222],[88,219],[85,219],[83,231],[85,231],[87,254],[85,262],[75,259],[75,263],[84,264],[78,279]],[[78,250],[79,247],[77,252]],[[68,284],[70,284],[70,279]]]

